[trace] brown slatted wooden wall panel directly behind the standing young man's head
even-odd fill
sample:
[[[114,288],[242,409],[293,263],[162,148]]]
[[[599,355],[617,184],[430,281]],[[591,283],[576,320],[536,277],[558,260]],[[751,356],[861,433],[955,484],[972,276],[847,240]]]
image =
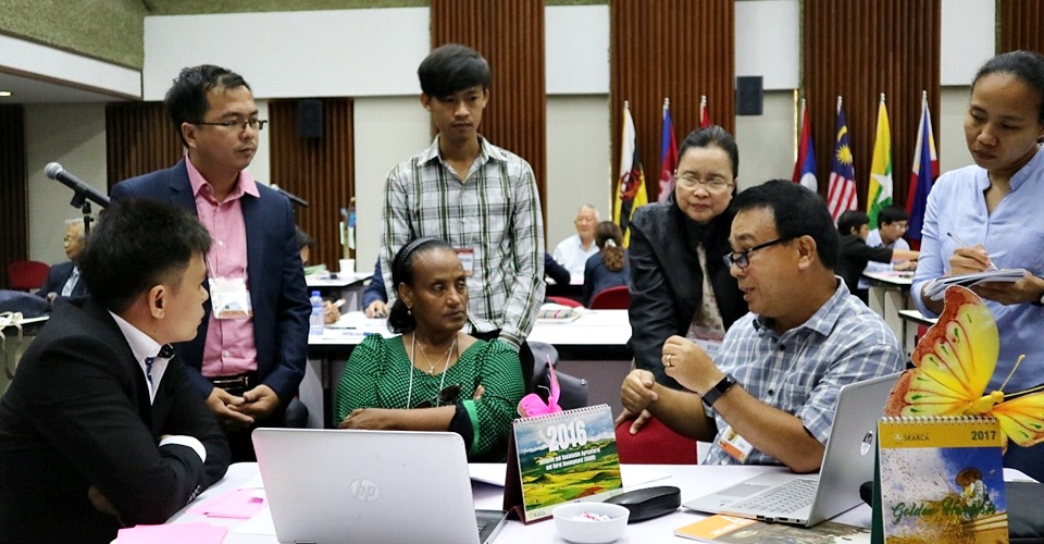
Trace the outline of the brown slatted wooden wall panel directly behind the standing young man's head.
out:
[[[529,161],[547,223],[547,101],[543,0],[432,0],[432,48],[468,46],[493,75],[478,132]]]

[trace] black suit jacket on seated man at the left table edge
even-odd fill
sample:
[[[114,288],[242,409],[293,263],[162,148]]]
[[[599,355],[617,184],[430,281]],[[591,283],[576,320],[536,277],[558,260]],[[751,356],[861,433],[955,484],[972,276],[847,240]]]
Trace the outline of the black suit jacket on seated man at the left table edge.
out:
[[[165,434],[198,438],[158,447]],[[147,382],[109,312],[58,301],[0,397],[0,542],[108,543],[123,526],[162,523],[220,480],[224,433],[172,359],[149,404]],[[97,487],[117,520],[87,498]]]

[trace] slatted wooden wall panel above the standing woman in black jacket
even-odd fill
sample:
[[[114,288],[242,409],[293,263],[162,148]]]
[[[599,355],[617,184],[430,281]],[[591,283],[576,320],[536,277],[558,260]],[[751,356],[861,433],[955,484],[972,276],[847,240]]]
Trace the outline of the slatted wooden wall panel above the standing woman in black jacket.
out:
[[[733,0],[610,0],[610,107],[612,187],[620,164],[623,102],[631,106],[649,201],[660,173],[663,99],[679,145],[699,126],[699,99],[707,96],[710,120],[733,132],[735,124],[735,10]],[[739,150],[743,161],[754,150]]]

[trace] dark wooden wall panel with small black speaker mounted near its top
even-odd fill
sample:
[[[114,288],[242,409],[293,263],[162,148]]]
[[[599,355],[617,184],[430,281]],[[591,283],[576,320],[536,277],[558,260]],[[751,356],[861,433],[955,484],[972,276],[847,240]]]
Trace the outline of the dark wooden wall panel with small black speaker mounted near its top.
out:
[[[309,202],[308,208],[295,206],[294,211],[297,225],[315,238],[310,262],[326,263],[327,269],[337,271],[337,259],[344,257],[338,232],[340,209],[347,209],[356,194],[352,101],[325,98],[322,102],[321,138],[298,133],[297,100],[269,102],[271,124],[262,137],[271,138],[272,178],[268,182]],[[356,265],[364,271],[373,262],[363,259]]]

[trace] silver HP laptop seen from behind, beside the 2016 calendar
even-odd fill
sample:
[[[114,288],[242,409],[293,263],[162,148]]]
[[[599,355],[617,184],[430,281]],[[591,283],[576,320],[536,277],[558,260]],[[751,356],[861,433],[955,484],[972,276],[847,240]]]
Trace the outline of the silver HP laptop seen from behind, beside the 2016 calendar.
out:
[[[252,438],[279,542],[486,544],[507,518],[475,510],[456,433],[258,429]]]

